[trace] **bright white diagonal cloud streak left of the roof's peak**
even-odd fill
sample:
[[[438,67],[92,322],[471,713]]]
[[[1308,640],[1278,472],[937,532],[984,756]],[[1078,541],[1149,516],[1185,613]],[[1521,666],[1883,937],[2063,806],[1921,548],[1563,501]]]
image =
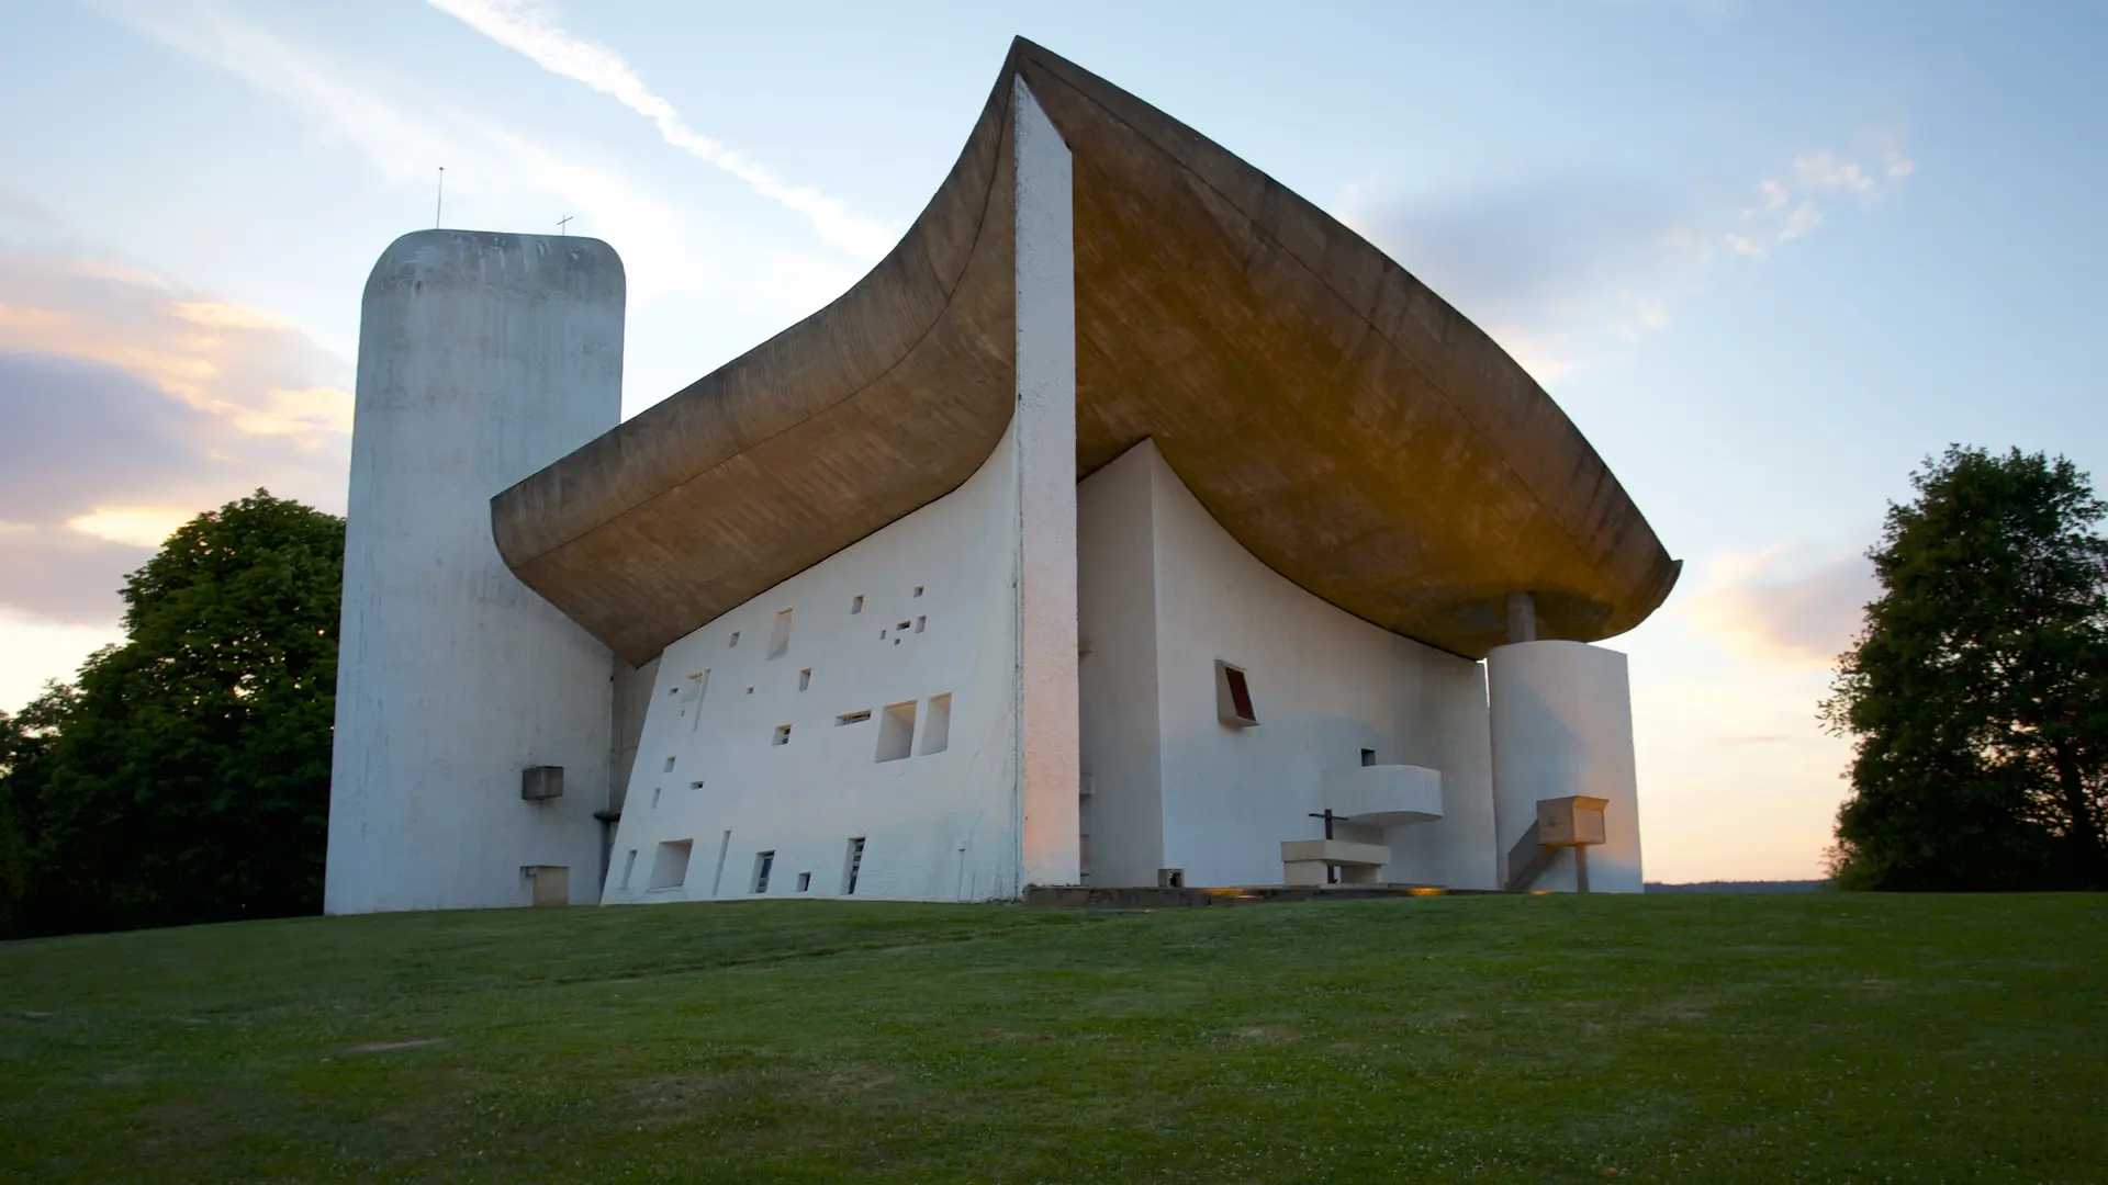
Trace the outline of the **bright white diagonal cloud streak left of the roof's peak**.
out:
[[[793,186],[765,164],[691,129],[670,101],[645,86],[643,76],[616,51],[571,36],[554,13],[535,0],[428,0],[493,42],[527,57],[550,74],[584,82],[651,120],[660,139],[738,177],[763,198],[797,211],[822,242],[860,259],[877,259],[900,238],[900,228],[850,213],[839,198],[809,186]]]

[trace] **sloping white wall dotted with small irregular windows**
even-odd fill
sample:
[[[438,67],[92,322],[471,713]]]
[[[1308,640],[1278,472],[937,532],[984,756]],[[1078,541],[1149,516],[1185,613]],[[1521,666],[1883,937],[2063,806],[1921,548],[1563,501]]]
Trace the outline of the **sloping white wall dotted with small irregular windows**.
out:
[[[858,898],[1018,894],[1014,436],[953,493],[666,647],[605,900],[755,896],[759,852],[776,852],[767,896],[841,896],[854,837]],[[788,639],[769,658],[784,609]],[[923,753],[946,694],[949,744]],[[885,708],[906,702],[913,755],[877,761]],[[871,717],[837,723],[852,713]],[[687,879],[651,890],[666,841],[694,843]]]

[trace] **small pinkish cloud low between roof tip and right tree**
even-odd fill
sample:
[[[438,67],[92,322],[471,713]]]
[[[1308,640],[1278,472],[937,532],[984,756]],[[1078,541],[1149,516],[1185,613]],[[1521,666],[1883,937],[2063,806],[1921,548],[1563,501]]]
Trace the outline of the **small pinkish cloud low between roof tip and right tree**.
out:
[[[1691,616],[1743,658],[1828,668],[1876,597],[1880,586],[1866,557],[1813,559],[1802,546],[1781,544],[1714,559],[1707,584],[1691,597]]]

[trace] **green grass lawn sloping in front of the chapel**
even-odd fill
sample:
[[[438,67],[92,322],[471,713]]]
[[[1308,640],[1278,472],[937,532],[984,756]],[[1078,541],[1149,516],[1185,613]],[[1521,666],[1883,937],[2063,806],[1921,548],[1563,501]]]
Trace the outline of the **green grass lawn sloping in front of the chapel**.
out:
[[[772,902],[0,945],[19,1181],[2102,1181],[2104,1065],[2100,896]]]

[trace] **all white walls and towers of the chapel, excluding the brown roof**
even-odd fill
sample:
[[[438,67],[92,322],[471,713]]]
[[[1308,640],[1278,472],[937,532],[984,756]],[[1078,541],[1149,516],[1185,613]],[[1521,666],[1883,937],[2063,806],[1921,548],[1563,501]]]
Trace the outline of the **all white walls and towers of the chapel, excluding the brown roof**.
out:
[[[1077,481],[1071,158],[1022,80],[1012,118],[995,451],[641,668],[514,580],[489,519],[618,422],[613,251],[388,249],[360,331],[331,913],[1322,883],[1326,854],[1353,881],[1495,890],[1537,799],[1575,793],[1611,801],[1592,888],[1640,890],[1621,654],[1480,664],[1364,622],[1237,544],[1153,441]],[[529,765],[561,765],[563,795],[525,801]],[[1562,854],[1535,888],[1573,886]]]

